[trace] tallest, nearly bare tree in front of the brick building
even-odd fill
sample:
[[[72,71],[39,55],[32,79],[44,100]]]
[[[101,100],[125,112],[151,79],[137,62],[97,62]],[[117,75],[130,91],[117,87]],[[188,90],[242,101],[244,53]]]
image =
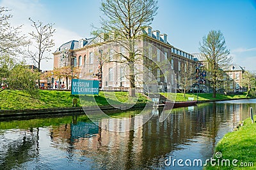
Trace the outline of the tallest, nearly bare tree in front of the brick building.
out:
[[[157,13],[155,0],[102,0],[100,10],[104,17],[101,18],[101,27],[93,31],[96,36],[101,36],[104,41],[114,42],[123,46],[128,55],[122,55],[125,60],[115,60],[127,64],[129,67],[130,82],[129,95],[135,96],[135,67],[140,62],[136,49],[136,42],[142,38],[141,29],[150,25]]]

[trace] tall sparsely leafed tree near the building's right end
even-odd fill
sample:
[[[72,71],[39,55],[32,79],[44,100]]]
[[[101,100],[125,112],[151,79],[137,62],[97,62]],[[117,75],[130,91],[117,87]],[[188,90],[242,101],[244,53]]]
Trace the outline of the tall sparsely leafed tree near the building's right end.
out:
[[[210,31],[207,36],[204,36],[199,50],[207,61],[207,78],[211,82],[212,97],[216,97],[216,89],[220,87],[223,79],[223,69],[227,68],[232,61],[221,31]]]

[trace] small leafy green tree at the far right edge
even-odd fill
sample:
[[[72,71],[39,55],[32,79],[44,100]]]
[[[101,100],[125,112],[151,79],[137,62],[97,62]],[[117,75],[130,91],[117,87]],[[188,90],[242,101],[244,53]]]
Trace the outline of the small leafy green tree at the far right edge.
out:
[[[243,87],[246,87],[247,89],[246,97],[250,96],[250,92],[252,91],[252,89],[256,87],[255,75],[253,75],[249,71],[245,71],[243,73],[243,79],[241,81],[241,85]]]

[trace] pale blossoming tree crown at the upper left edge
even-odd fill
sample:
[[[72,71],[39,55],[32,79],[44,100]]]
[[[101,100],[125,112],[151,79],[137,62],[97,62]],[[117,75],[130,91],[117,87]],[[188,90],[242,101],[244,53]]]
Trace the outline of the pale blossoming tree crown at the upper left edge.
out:
[[[20,34],[22,25],[13,27],[9,20],[13,17],[6,7],[0,6],[0,55],[15,55],[22,52],[22,46],[28,45],[26,36]]]

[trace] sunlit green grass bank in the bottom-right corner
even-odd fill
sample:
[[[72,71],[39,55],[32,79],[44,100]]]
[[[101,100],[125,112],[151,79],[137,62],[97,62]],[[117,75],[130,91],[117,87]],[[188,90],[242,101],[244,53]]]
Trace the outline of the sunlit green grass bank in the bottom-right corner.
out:
[[[256,116],[254,120],[256,120]],[[256,123],[252,124],[252,120],[248,118],[237,131],[225,134],[216,146],[216,152],[222,153],[221,159],[229,159],[231,166],[207,166],[205,169],[255,169]],[[232,160],[234,159],[238,160],[237,166],[232,166]]]

